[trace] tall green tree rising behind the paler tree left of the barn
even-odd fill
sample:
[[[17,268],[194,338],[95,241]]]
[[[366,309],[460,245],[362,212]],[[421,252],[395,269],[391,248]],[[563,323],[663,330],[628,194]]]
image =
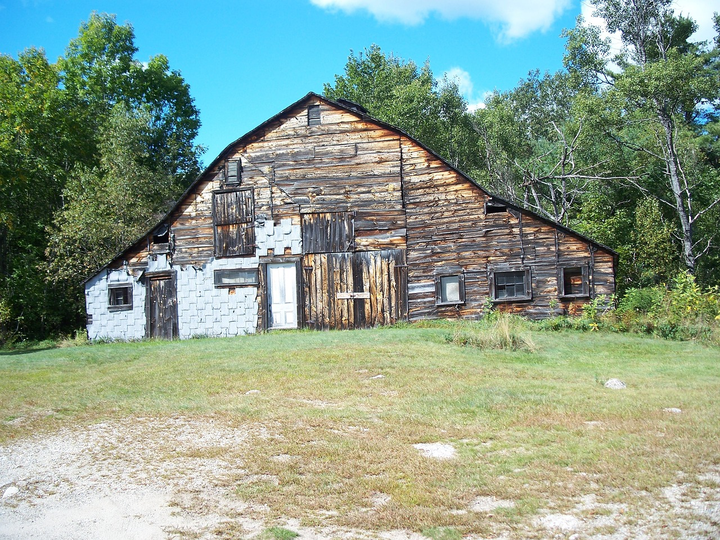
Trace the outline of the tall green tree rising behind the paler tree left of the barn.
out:
[[[84,113],[88,141],[95,147],[95,135],[117,103],[147,112],[152,128],[146,140],[148,166],[170,170],[189,184],[200,172],[202,152],[193,142],[200,119],[190,87],[164,55],[147,64],[137,60],[134,40],[130,24],[93,13],[59,60],[65,91]]]

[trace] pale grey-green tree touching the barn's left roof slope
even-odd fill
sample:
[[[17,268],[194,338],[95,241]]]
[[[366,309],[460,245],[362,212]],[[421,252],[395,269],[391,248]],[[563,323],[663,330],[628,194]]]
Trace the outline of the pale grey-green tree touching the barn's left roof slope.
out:
[[[49,228],[53,283],[78,284],[146,232],[182,192],[171,171],[148,166],[151,124],[147,112],[118,103],[100,126],[99,164],[73,171],[63,190],[67,202]]]

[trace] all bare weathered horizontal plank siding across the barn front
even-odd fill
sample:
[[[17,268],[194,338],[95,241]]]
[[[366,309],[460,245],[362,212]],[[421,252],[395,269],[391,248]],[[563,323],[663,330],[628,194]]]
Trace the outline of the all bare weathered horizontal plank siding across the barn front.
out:
[[[300,224],[304,213],[353,211],[355,250],[407,248],[411,319],[481,314],[488,266],[532,267],[533,300],[497,304],[530,316],[546,315],[550,300],[557,299],[558,264],[588,264],[592,257],[591,291],[614,291],[611,254],[599,250],[591,256],[587,242],[563,234],[556,239],[554,227],[528,214],[521,220],[511,213],[485,216],[483,192],[412,141],[324,103],[322,123],[308,127],[308,104],[266,126],[227,159],[241,160],[241,185],[254,188],[256,216]],[[202,264],[213,256],[212,192],[222,187],[223,166],[208,171],[171,216],[176,265]],[[142,267],[147,258],[145,240],[126,260]],[[464,271],[464,305],[435,306],[433,280],[443,269]]]

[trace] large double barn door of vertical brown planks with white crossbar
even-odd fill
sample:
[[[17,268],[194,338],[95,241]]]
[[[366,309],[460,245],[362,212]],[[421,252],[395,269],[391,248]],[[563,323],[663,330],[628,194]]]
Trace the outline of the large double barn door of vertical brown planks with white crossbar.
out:
[[[405,251],[305,256],[305,320],[317,330],[369,328],[407,318]]]

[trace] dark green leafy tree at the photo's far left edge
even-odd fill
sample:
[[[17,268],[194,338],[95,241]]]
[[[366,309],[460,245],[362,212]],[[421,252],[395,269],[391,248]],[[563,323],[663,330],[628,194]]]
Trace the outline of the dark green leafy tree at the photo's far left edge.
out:
[[[41,50],[0,56],[0,342],[62,322],[39,266],[84,142],[60,80]]]

